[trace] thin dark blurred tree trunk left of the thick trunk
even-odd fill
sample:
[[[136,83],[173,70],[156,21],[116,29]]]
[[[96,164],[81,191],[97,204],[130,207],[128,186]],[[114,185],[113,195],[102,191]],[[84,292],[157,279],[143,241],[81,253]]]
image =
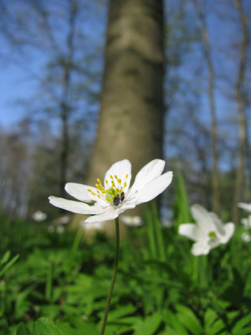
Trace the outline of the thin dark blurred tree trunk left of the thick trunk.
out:
[[[73,37],[75,29],[75,18],[77,13],[76,4],[71,2],[71,13],[70,13],[70,30],[68,35],[68,56],[64,60],[63,70],[64,70],[64,92],[61,103],[61,118],[62,118],[62,152],[61,152],[61,178],[60,178],[60,193],[62,197],[65,197],[65,184],[66,184],[66,174],[68,167],[68,154],[69,154],[69,95],[70,95],[70,74],[72,67],[72,58],[73,58]]]

